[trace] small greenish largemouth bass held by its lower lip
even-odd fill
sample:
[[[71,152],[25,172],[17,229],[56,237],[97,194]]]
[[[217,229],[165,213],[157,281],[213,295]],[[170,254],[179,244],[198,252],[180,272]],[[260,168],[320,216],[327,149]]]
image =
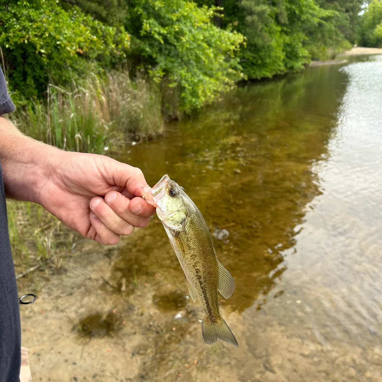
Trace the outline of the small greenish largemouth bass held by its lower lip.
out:
[[[212,344],[221,340],[238,347],[238,342],[219,312],[217,292],[228,299],[235,290],[230,272],[217,259],[214,241],[199,209],[184,189],[169,176],[143,196],[156,207],[157,216],[185,274],[189,294],[203,308],[202,336]]]

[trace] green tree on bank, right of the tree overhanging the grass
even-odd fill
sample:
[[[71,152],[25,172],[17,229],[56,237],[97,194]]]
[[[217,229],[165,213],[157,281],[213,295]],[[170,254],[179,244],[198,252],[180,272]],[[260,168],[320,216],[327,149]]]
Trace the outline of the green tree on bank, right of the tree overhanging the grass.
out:
[[[245,17],[238,20],[238,28],[248,37],[243,66],[253,78],[301,70],[311,58],[306,49],[309,31],[318,31],[332,16],[313,0],[241,0],[240,7]]]

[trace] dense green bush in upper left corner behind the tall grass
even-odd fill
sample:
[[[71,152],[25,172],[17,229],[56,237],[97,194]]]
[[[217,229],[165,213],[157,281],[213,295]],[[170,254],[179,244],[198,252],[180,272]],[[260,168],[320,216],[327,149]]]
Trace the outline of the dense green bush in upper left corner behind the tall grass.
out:
[[[125,57],[129,36],[77,7],[55,0],[0,1],[0,46],[10,90],[41,97],[49,82],[65,85]]]

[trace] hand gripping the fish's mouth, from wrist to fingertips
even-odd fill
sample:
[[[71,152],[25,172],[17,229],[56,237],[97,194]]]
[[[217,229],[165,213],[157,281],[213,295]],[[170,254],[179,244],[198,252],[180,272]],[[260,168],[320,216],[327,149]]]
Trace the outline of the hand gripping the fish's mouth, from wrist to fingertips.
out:
[[[49,167],[37,202],[86,238],[117,244],[120,235],[146,227],[154,214],[141,198],[149,186],[139,168],[103,155],[59,150]]]

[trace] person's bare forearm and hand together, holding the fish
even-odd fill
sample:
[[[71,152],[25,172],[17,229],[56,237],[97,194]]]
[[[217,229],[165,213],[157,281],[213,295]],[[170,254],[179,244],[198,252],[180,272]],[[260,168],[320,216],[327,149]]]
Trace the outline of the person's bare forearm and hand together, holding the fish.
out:
[[[6,196],[41,204],[81,235],[116,244],[154,214],[141,198],[150,188],[139,168],[59,150],[21,134],[2,117],[0,137]]]

